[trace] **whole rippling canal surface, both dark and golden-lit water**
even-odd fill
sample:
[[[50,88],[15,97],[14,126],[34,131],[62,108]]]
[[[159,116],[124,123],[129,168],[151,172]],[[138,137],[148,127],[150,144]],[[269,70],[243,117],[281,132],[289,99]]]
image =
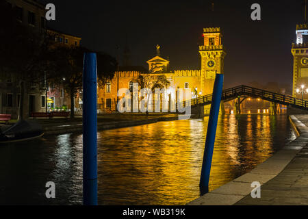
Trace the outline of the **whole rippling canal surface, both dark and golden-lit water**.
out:
[[[183,205],[198,198],[207,117],[99,132],[100,205]],[[220,116],[209,190],[295,138],[286,115]],[[55,198],[45,183],[55,182]],[[0,204],[82,203],[82,136],[0,146]]]

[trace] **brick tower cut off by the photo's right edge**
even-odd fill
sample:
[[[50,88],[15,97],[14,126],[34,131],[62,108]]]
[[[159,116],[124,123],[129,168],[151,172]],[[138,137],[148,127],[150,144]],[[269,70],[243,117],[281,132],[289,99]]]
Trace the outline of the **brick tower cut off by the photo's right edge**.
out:
[[[301,90],[301,86],[308,88],[308,43],[303,42],[303,35],[308,35],[308,25],[296,25],[296,43],[292,44],[293,59],[293,86],[292,96],[299,99],[302,98],[301,94],[296,93],[296,89]],[[307,94],[304,94],[304,99]]]

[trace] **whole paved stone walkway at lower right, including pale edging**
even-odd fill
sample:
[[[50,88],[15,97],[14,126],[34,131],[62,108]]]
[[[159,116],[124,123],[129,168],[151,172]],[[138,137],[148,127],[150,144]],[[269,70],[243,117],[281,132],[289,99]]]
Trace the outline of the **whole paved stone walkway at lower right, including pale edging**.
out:
[[[188,205],[308,205],[308,115],[290,118],[300,134],[296,140],[251,172]],[[261,183],[261,198],[251,197],[253,181]]]

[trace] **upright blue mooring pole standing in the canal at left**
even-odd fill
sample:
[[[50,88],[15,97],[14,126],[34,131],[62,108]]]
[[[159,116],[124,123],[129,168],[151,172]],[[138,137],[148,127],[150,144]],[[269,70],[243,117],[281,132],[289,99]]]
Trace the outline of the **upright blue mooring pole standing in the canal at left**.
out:
[[[84,205],[97,205],[97,54],[84,53],[83,179]]]

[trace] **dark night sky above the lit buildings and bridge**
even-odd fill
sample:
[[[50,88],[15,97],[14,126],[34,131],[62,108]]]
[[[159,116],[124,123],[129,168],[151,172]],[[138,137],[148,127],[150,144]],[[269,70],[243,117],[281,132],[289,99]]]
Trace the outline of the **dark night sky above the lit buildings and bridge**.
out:
[[[286,1],[52,1],[56,21],[49,27],[82,38],[84,47],[120,58],[127,44],[131,64],[146,67],[161,46],[172,70],[200,69],[198,45],[203,27],[220,27],[227,56],[224,88],[257,81],[292,84],[292,42],[304,21],[303,0]],[[251,5],[261,5],[261,21],[251,20]],[[122,64],[122,60],[120,60]]]

